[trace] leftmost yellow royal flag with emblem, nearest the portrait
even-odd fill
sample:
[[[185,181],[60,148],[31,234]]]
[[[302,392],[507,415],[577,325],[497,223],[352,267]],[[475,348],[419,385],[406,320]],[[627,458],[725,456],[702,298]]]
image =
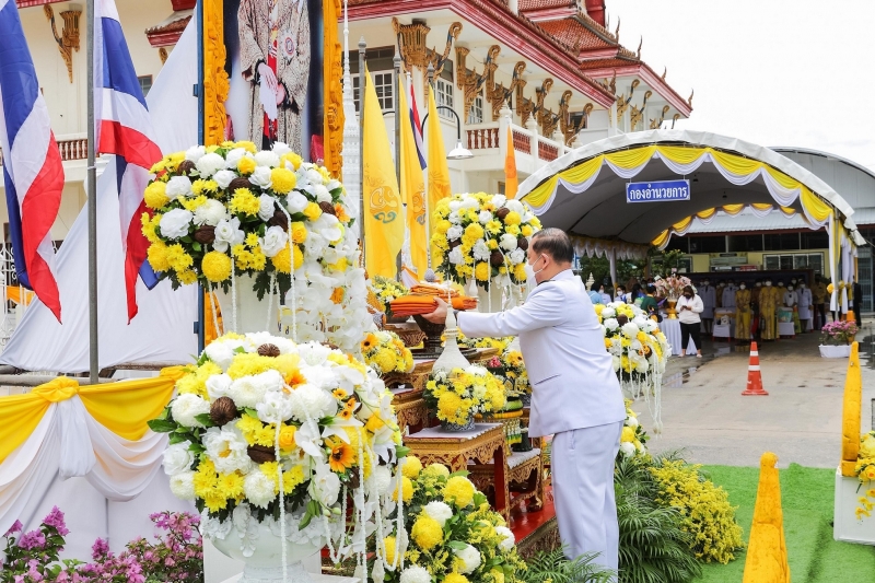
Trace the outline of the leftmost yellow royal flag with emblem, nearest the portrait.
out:
[[[364,253],[370,277],[395,278],[396,258],[404,245],[404,218],[389,138],[365,68],[364,86]]]

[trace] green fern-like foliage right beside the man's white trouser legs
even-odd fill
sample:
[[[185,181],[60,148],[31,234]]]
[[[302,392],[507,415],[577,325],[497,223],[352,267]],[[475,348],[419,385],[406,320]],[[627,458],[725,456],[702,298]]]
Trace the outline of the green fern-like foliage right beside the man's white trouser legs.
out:
[[[629,457],[616,464],[615,491],[620,526],[619,583],[681,583],[701,573],[681,529],[677,509],[656,502],[650,458]]]

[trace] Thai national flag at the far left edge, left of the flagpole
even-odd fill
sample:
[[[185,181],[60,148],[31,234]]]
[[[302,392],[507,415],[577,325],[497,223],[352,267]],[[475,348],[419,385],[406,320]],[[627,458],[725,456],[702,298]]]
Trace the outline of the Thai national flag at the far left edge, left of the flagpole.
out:
[[[50,230],[61,203],[63,164],[15,0],[0,0],[0,145],[19,282],[60,322]]]

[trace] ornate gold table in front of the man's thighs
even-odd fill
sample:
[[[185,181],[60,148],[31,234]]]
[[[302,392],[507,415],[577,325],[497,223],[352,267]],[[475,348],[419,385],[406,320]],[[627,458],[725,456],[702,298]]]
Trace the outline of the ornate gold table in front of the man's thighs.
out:
[[[464,432],[429,428],[408,435],[404,444],[420,458],[423,465],[443,464],[450,471],[469,469],[468,462],[487,465],[492,470],[495,486],[494,508],[505,520],[510,518],[510,493],[508,489],[508,444],[501,423],[477,423],[474,430]]]

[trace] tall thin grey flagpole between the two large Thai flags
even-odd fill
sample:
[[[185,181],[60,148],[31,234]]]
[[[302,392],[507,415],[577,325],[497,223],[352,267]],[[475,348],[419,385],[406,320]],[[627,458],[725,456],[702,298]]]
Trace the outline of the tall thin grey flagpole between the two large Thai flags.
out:
[[[89,23],[85,33],[88,55],[88,201],[89,201],[89,381],[97,384],[97,172],[94,168],[94,0],[86,0]]]

